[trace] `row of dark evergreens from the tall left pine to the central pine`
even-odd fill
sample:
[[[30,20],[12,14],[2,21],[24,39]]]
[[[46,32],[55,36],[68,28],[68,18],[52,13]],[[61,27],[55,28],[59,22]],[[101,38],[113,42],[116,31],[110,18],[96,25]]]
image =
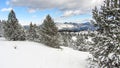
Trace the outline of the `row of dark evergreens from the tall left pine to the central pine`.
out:
[[[10,11],[7,21],[4,23],[4,37],[12,41],[36,41],[45,45],[59,48],[58,29],[50,15],[46,16],[41,27],[30,23],[27,31],[20,25],[15,12]]]

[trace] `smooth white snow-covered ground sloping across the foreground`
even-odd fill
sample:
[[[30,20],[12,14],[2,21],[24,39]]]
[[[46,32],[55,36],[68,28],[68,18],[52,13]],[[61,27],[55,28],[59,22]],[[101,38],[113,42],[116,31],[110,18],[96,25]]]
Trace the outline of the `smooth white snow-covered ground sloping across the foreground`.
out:
[[[0,68],[86,68],[89,53],[62,48],[0,38]]]

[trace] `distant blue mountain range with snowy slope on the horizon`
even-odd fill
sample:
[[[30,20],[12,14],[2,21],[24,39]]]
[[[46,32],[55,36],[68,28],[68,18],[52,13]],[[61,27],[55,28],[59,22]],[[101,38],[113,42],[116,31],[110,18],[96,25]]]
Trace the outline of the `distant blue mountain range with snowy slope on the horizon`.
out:
[[[85,23],[57,23],[56,25],[57,25],[59,31],[79,32],[79,31],[87,31],[87,30],[91,30],[91,31],[96,30],[96,27],[94,27],[94,25],[91,24],[90,22],[85,22]]]

